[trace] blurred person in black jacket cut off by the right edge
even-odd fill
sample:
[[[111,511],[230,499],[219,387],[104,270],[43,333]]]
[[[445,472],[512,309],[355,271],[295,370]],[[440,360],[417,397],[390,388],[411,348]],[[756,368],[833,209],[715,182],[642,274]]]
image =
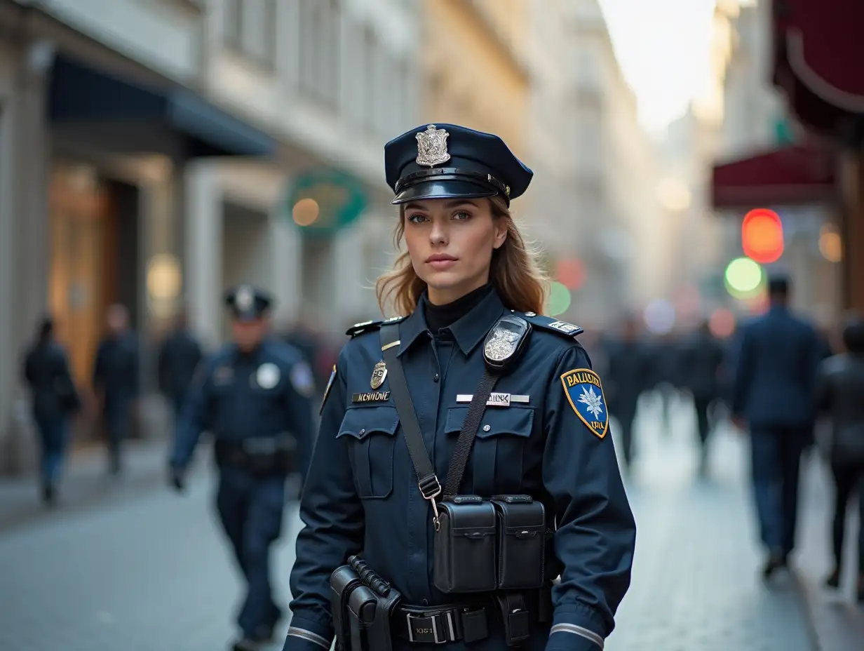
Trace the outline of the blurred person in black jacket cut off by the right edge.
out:
[[[823,361],[816,385],[816,405],[830,418],[829,461],[834,476],[834,569],[825,583],[839,587],[843,539],[848,531],[846,507],[858,495],[864,524],[864,319],[855,316],[843,329],[847,352]],[[864,602],[864,531],[858,533],[857,597]]]

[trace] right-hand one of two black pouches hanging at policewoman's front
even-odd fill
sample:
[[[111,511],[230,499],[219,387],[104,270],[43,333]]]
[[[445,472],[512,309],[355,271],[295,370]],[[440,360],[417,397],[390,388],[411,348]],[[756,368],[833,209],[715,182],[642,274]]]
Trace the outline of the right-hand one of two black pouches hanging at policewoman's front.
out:
[[[534,590],[545,577],[546,513],[530,495],[496,495],[499,590]]]

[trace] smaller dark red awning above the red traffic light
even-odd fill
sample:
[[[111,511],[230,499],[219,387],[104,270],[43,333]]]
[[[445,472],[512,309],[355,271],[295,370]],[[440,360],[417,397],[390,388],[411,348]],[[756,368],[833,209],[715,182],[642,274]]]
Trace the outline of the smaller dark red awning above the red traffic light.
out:
[[[829,201],[835,194],[835,160],[812,145],[767,151],[715,165],[711,190],[715,208]]]

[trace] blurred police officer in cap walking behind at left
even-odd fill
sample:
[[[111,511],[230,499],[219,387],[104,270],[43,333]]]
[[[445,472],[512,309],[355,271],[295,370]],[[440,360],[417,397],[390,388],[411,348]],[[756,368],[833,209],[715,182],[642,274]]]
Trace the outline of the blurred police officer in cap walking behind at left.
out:
[[[286,477],[304,475],[314,443],[312,372],[302,355],[267,336],[272,299],[240,285],[226,295],[233,341],[202,363],[178,419],[171,482],[184,488],[200,433],[214,438],[219,520],[245,578],[236,651],[270,641],[282,612],[270,583],[270,546],[279,538]]]

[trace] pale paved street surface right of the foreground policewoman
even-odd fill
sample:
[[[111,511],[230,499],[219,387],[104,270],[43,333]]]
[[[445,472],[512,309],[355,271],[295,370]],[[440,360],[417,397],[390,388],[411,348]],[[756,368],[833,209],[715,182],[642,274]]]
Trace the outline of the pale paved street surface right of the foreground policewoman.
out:
[[[690,413],[671,431],[645,405],[628,487],[638,534],[632,587],[607,651],[813,651],[796,582],[766,587],[746,483],[746,441],[721,428],[708,480],[696,475]],[[846,650],[851,651],[851,650]]]

